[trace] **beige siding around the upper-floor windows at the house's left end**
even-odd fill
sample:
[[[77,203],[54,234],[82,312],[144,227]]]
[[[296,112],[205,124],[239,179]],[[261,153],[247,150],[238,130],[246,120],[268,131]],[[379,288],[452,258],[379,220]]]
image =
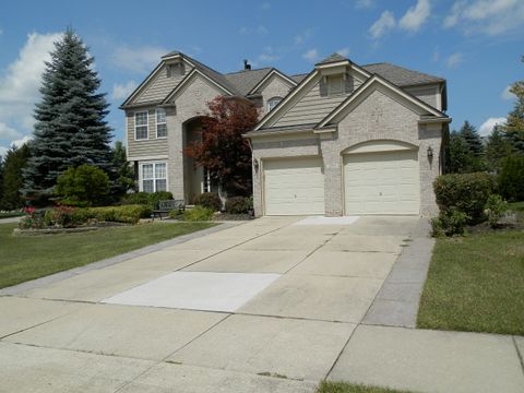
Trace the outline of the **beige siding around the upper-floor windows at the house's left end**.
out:
[[[145,111],[136,110],[136,111]],[[167,155],[167,139],[156,139],[156,115],[155,109],[147,109],[148,112],[148,140],[134,140],[134,111],[128,110],[126,114],[128,124],[128,156],[152,157]],[[167,130],[169,133],[169,129]]]

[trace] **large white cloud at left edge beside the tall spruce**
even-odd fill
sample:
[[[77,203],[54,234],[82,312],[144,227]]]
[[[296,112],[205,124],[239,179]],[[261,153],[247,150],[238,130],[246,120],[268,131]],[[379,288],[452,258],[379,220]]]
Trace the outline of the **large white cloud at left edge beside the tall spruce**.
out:
[[[19,140],[31,133],[45,61],[50,60],[49,52],[60,36],[60,33],[29,34],[19,57],[0,74],[0,140]]]

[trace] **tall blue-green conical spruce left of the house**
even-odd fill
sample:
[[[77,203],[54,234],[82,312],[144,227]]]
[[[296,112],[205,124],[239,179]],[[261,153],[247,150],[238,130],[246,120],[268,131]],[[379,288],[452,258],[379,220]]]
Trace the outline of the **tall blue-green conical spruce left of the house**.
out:
[[[72,28],[55,43],[35,109],[33,155],[24,171],[28,195],[51,195],[58,176],[71,166],[110,167],[111,130],[104,120],[108,104],[98,93],[93,61]]]

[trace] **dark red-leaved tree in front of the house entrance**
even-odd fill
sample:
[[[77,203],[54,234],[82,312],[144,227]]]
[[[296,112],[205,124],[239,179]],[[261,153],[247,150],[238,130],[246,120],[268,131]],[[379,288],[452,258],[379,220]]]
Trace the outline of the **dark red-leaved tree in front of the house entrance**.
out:
[[[192,141],[184,154],[210,171],[228,195],[252,192],[251,147],[242,134],[259,119],[253,103],[245,98],[217,96],[207,103],[202,118],[201,139]]]

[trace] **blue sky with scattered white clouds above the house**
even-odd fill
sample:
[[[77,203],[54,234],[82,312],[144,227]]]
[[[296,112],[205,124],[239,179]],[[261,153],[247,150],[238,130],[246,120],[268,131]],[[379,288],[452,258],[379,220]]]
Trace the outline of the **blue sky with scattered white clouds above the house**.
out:
[[[95,57],[115,140],[118,109],[171,50],[230,72],[242,59],[308,72],[338,51],[359,64],[388,61],[448,80],[453,128],[484,133],[513,106],[523,79],[523,0],[9,1],[0,16],[0,154],[32,133],[43,62],[68,25]],[[484,124],[484,126],[483,126]]]

